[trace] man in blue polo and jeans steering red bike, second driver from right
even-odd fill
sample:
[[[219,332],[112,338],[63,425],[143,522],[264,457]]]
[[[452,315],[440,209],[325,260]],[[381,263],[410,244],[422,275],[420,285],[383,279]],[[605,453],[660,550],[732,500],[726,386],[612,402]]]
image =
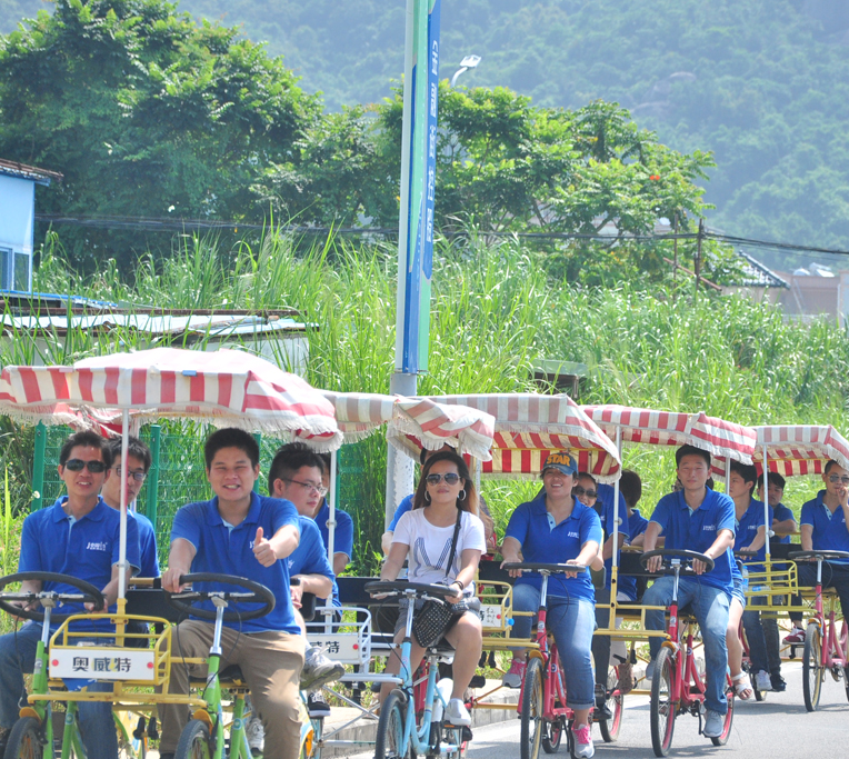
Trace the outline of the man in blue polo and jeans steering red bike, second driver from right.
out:
[[[735,542],[735,503],[723,493],[707,487],[710,475],[710,453],[693,446],[681,446],[676,451],[678,478],[682,490],[660,499],[646,529],[646,551],[655,550],[658,537],[666,537],[667,549],[698,551],[713,559],[715,566],[707,571],[702,561],[693,562],[697,577],[682,577],[678,587],[679,608],[689,606],[699,621],[705,641],[707,669],[707,715],[703,735],[718,738],[728,711],[726,699],[726,669],[728,648],[726,628],[731,598],[731,547]],[[661,557],[649,560],[649,571],[658,571]],[[672,600],[675,578],[661,577],[642,597],[646,606],[669,607]],[[666,628],[663,611],[647,611],[646,625],[650,630]],[[650,638],[651,663],[647,676],[653,671],[660,651],[660,639]]]

